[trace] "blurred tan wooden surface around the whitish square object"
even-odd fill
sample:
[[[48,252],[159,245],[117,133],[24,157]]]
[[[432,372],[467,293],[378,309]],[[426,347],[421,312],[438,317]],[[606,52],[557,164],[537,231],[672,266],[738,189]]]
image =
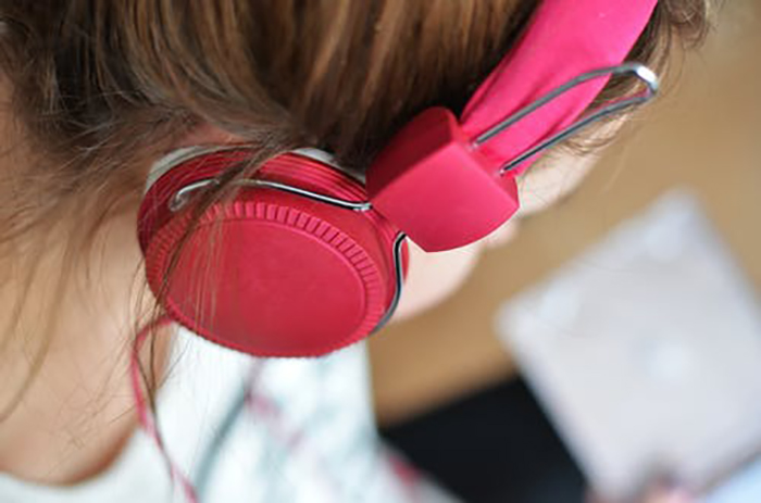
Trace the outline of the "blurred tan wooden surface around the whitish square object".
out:
[[[671,188],[698,194],[761,292],[761,1],[725,2],[708,45],[678,73],[678,85],[608,150],[577,192],[489,252],[452,299],[373,338],[380,423],[514,375],[492,331],[497,306]]]

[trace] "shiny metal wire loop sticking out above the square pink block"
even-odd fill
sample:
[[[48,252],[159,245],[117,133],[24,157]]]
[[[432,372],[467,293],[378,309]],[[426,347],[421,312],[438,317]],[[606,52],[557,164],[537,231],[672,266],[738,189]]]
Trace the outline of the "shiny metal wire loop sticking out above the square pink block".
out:
[[[645,84],[647,89],[645,92],[641,92],[639,95],[635,95],[629,98],[625,98],[619,101],[613,101],[612,103],[608,103],[607,105],[601,106],[600,109],[596,110],[595,112],[589,113],[588,115],[583,116],[565,129],[561,130],[560,133],[553,135],[552,137],[539,142],[538,144],[532,147],[531,149],[526,150],[523,152],[521,155],[517,158],[513,159],[512,161],[508,162],[504,164],[502,167],[499,169],[500,176],[504,175],[506,173],[510,172],[511,169],[514,169],[517,167],[520,164],[525,162],[526,160],[533,158],[534,155],[538,154],[539,152],[542,152],[551,147],[554,147],[556,144],[560,143],[561,141],[566,140],[567,138],[572,137],[573,135],[577,134],[582,129],[586,128],[587,126],[595,124],[599,122],[600,120],[612,115],[614,113],[621,112],[623,110],[629,109],[632,106],[638,106],[641,105],[650,100],[652,100],[656,95],[658,95],[658,90],[660,88],[660,83],[658,75],[647,66],[640,64],[640,63],[624,63],[619,66],[610,66],[606,68],[600,68],[600,70],[594,70],[591,72],[584,73],[579,75],[578,77],[573,78],[572,80],[569,80],[567,83],[563,84],[559,88],[554,89],[553,91],[549,92],[548,95],[539,98],[538,100],[534,101],[533,103],[528,104],[527,106],[519,110],[514,114],[510,115],[508,118],[504,121],[500,122],[499,124],[495,125],[494,127],[489,128],[487,131],[481,134],[475,141],[473,142],[474,148],[478,148],[482,144],[486,143],[494,137],[498,136],[499,134],[503,133],[506,129],[508,129],[510,126],[514,125],[515,123],[520,122],[522,118],[524,118],[526,115],[534,113],[541,106],[546,105],[547,103],[553,101],[556,98],[564,95],[565,92],[570,91],[571,89],[574,89],[577,86],[581,86],[584,83],[587,83],[589,80],[592,80],[595,78],[600,78],[604,76],[614,76],[614,75],[625,75],[625,74],[631,74],[637,77],[640,81]]]

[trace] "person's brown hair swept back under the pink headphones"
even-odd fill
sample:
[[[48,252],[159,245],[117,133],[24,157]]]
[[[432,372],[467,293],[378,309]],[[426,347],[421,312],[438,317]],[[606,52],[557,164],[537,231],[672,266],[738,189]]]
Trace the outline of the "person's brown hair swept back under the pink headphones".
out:
[[[676,41],[704,34],[710,1],[661,0],[631,59],[662,67]],[[137,204],[147,161],[201,122],[260,151],[207,203],[235,190],[226,181],[295,147],[319,147],[361,168],[421,110],[460,110],[536,3],[4,2],[10,113],[39,162],[14,174],[23,183],[0,210],[0,244],[60,225],[65,214],[80,224],[71,254],[86,256],[104,215]],[[613,80],[600,100],[631,86]]]

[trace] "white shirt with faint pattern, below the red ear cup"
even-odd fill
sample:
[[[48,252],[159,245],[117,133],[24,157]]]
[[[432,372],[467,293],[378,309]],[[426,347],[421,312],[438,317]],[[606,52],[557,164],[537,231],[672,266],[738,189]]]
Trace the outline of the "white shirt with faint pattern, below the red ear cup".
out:
[[[425,480],[400,475],[396,455],[379,442],[369,397],[363,344],[323,359],[254,360],[180,330],[157,416],[170,457],[199,502],[454,502]],[[139,430],[112,466],[78,485],[42,486],[0,474],[0,501],[187,499],[153,440]]]

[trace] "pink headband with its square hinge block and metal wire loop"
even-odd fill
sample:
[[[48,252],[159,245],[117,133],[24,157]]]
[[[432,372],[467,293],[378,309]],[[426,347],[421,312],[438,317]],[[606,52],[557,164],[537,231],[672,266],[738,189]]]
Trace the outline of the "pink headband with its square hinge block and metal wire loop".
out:
[[[536,156],[535,148],[575,129],[610,75],[622,72],[657,3],[542,1],[460,120],[447,109],[428,109],[380,152],[366,175],[373,208],[426,251],[465,246],[502,225],[519,209],[515,176]],[[652,97],[654,75],[641,66],[626,71],[648,81],[650,95],[600,113]],[[512,125],[502,129],[507,123]]]

